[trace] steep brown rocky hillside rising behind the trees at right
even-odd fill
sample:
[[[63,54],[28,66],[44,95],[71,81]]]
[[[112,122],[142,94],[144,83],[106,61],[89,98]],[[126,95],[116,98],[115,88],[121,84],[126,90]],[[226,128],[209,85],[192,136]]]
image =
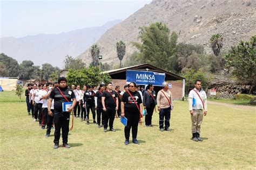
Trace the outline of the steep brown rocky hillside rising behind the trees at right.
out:
[[[256,1],[253,0],[153,0],[113,26],[97,44],[101,47],[102,62],[118,65],[117,41],[126,43],[124,60],[127,60],[135,50],[131,41],[138,41],[139,26],[163,22],[179,34],[179,42],[204,45],[208,53],[211,52],[212,34],[220,33],[224,37],[225,50],[256,34],[255,11]],[[78,57],[86,63],[91,62],[89,49]]]

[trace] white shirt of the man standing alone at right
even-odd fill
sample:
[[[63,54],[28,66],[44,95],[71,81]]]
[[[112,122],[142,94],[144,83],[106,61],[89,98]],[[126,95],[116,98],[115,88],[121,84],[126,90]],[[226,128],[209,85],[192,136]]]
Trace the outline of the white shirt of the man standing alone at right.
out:
[[[207,111],[207,104],[206,104],[207,96],[206,96],[205,91],[203,89],[198,91],[196,88],[194,88],[194,90],[196,90],[197,93],[200,95],[200,97],[203,100],[204,105],[205,105],[205,111]],[[197,95],[196,91],[194,91],[194,90],[190,90],[190,93],[188,94],[188,99],[192,99],[192,103],[193,103],[193,99],[194,99],[194,101],[196,102],[196,105],[194,105],[194,107],[193,107],[192,103],[189,104],[189,110],[192,110],[192,109],[200,109],[200,110],[204,109],[203,103],[200,100],[200,97]]]

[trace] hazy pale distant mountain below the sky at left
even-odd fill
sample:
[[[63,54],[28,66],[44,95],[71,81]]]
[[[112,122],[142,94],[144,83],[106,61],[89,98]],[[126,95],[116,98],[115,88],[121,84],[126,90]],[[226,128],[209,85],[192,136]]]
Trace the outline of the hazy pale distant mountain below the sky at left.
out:
[[[62,67],[66,55],[77,56],[94,44],[112,26],[122,22],[113,20],[103,26],[89,27],[60,34],[38,34],[22,38],[0,38],[0,53],[16,59],[19,63],[31,60],[41,66],[48,62]]]

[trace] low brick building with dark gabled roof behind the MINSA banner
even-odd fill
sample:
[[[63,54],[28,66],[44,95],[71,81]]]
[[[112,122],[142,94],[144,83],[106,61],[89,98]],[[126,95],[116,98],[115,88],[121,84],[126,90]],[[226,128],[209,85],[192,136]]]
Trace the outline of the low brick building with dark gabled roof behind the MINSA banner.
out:
[[[145,63],[142,65],[124,67],[119,69],[108,70],[103,73],[109,73],[112,78],[113,86],[120,86],[121,90],[126,84],[126,70],[140,70],[157,73],[165,73],[165,81],[172,84],[170,89],[174,100],[181,100],[185,96],[185,78],[164,69]],[[158,92],[161,87],[154,86],[154,90]]]

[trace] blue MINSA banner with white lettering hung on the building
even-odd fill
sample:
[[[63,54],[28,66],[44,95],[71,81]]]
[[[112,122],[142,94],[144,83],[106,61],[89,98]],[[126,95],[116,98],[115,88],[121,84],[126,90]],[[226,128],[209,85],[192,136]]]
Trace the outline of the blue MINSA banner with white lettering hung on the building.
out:
[[[126,70],[126,82],[135,82],[139,85],[153,84],[162,86],[165,80],[165,73],[146,72],[138,70]]]

